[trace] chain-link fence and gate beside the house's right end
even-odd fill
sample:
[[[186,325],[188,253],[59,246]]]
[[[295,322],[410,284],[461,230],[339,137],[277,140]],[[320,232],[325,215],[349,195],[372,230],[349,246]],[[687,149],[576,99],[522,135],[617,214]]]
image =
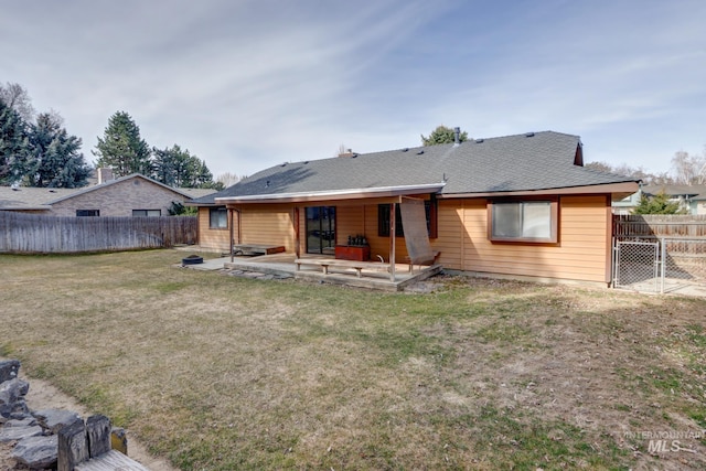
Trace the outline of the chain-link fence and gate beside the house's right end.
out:
[[[613,288],[706,296],[706,239],[613,239]]]

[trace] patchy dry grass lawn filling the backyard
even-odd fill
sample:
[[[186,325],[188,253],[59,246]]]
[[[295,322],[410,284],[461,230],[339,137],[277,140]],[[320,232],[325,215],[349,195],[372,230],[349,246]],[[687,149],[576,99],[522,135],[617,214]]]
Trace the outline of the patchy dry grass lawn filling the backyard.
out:
[[[706,467],[705,300],[450,277],[391,295],[180,257],[0,256],[0,354],[184,470]]]

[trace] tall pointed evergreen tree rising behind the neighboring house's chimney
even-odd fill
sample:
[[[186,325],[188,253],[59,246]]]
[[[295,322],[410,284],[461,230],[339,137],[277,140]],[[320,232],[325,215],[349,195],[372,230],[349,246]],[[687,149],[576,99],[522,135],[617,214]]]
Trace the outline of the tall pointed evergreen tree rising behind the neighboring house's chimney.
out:
[[[117,111],[108,119],[104,137],[98,138],[94,156],[98,167],[109,167],[116,176],[152,174],[150,148],[130,115]]]

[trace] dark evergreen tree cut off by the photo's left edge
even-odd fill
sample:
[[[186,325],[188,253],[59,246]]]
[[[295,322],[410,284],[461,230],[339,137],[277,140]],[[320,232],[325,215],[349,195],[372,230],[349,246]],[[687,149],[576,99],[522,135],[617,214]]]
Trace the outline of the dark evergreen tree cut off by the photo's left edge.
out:
[[[28,125],[20,115],[0,99],[0,184],[22,180],[30,167]]]

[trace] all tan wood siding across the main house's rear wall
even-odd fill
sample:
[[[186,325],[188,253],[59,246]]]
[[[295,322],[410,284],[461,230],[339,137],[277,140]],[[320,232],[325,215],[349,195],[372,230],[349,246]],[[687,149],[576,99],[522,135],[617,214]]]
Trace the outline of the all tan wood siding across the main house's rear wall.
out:
[[[242,243],[285,245],[295,251],[291,223],[293,204],[244,205]],[[375,204],[336,206],[336,243],[349,235],[363,234],[371,245],[371,258],[389,258],[389,237],[377,235]],[[306,253],[306,211],[299,212],[302,234],[300,253]],[[608,282],[610,269],[611,218],[606,195],[565,195],[559,199],[559,243],[491,243],[488,239],[485,199],[439,201],[438,237],[431,239],[441,253],[440,263],[449,269],[489,275],[542,277]],[[228,231],[210,231],[208,210],[199,212],[200,236],[210,245],[228,248]],[[396,261],[405,263],[407,247],[396,238]]]

